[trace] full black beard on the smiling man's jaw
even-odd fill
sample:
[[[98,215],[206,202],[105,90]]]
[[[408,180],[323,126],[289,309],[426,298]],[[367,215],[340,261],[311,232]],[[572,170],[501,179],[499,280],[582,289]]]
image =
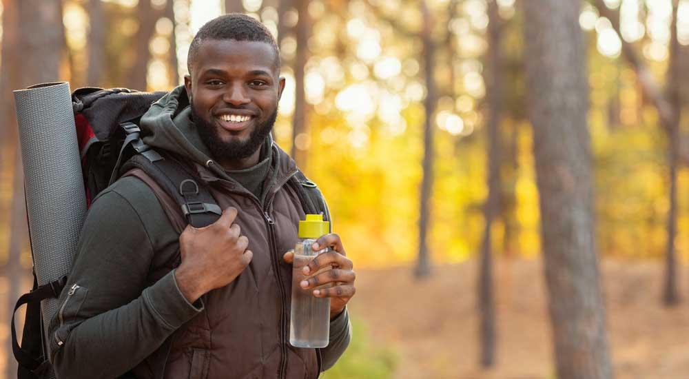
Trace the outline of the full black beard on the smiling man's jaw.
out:
[[[218,126],[203,119],[194,110],[194,103],[191,105],[192,120],[196,124],[198,136],[217,161],[237,161],[254,154],[263,145],[271,130],[273,130],[273,125],[278,117],[278,109],[276,108],[263,123],[258,123],[258,120],[256,120],[256,127],[249,134],[247,141],[238,141],[238,139],[223,141],[220,133],[218,133]]]

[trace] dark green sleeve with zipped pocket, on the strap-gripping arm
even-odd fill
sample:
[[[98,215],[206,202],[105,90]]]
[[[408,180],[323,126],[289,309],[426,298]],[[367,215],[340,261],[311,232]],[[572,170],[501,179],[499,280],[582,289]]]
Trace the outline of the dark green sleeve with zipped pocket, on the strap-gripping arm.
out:
[[[114,189],[94,202],[74,267],[50,323],[58,378],[115,378],[163,344],[201,310],[178,289],[174,271],[146,287],[153,243],[135,207]]]

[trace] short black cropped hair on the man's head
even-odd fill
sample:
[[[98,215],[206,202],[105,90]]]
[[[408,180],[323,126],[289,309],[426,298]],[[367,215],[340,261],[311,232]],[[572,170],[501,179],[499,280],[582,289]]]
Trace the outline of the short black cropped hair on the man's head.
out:
[[[192,39],[187,54],[187,70],[192,74],[192,66],[196,61],[198,48],[206,40],[256,41],[265,42],[275,50],[276,65],[280,70],[280,49],[270,30],[253,17],[241,13],[223,14],[205,23]]]

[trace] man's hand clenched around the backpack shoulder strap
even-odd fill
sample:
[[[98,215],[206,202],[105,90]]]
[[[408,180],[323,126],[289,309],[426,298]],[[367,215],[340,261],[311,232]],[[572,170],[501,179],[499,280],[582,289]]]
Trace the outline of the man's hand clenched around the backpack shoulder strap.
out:
[[[174,276],[189,303],[231,283],[251,262],[254,254],[247,250],[249,238],[233,224],[237,213],[229,207],[215,223],[202,228],[187,225],[179,236],[182,263]]]

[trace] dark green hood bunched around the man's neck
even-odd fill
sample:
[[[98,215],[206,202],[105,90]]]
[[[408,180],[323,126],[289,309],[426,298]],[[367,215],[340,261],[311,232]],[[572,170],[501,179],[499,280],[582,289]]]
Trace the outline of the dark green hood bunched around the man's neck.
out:
[[[207,167],[219,178],[232,181],[201,141],[191,115],[192,107],[189,105],[187,91],[184,85],[180,85],[153,103],[141,116],[139,127],[143,142],[156,150],[166,150],[188,158],[202,167]],[[278,145],[272,141],[269,145],[272,146],[273,154],[270,176],[274,180],[279,178],[280,174],[287,174],[296,169],[294,161]]]

